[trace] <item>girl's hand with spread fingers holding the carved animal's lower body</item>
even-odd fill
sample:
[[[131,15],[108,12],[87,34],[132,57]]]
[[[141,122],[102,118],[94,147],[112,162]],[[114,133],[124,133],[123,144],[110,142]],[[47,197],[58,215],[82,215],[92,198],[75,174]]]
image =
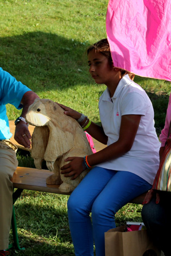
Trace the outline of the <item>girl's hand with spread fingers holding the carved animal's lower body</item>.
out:
[[[70,158],[66,158],[65,162],[69,162],[65,164],[65,166],[61,167],[61,174],[64,174],[64,177],[72,176],[72,180],[76,179],[82,171],[85,170],[84,168],[84,158],[73,156]]]

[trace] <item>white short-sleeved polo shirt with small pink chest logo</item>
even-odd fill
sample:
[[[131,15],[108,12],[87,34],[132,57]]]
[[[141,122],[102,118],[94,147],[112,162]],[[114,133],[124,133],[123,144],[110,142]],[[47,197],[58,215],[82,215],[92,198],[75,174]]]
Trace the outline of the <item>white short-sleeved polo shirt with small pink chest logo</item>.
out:
[[[126,75],[120,80],[112,98],[108,89],[103,92],[99,99],[99,114],[108,146],[119,139],[122,115],[141,115],[141,119],[131,150],[97,166],[129,171],[152,184],[159,168],[160,142],[154,127],[153,106],[147,93]]]

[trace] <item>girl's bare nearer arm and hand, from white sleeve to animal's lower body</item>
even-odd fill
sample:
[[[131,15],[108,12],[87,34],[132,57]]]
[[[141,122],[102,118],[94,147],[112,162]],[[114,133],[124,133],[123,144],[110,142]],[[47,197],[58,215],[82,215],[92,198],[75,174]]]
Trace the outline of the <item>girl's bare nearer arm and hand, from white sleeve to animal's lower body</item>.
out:
[[[118,141],[95,154],[87,156],[87,161],[90,166],[118,158],[131,150],[139,127],[140,119],[141,115],[123,115]],[[61,167],[61,173],[66,177],[73,176],[72,179],[76,179],[76,177],[84,170],[82,167],[84,158],[72,157],[65,159],[65,161],[69,163]]]

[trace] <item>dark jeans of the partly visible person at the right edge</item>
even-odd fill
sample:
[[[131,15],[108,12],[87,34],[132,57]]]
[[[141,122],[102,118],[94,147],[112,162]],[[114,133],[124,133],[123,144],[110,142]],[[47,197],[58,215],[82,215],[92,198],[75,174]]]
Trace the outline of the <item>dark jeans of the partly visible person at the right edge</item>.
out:
[[[171,255],[170,247],[170,201],[171,193],[160,192],[160,203],[156,204],[155,197],[143,206],[141,215],[143,222],[157,246],[165,256]]]

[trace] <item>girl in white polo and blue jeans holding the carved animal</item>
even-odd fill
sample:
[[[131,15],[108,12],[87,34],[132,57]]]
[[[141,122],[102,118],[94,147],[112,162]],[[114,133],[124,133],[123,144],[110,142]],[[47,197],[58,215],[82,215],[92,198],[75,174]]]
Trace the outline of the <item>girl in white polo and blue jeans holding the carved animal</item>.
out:
[[[114,67],[107,39],[87,50],[89,72],[107,89],[99,99],[102,126],[64,105],[70,115],[107,147],[86,158],[68,158],[61,173],[75,179],[84,168],[89,174],[68,200],[70,232],[76,255],[105,255],[105,232],[115,228],[115,213],[151,188],[159,166],[153,107],[145,91],[123,69]],[[134,75],[132,75],[134,76]],[[91,212],[91,218],[90,218]]]

